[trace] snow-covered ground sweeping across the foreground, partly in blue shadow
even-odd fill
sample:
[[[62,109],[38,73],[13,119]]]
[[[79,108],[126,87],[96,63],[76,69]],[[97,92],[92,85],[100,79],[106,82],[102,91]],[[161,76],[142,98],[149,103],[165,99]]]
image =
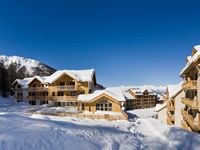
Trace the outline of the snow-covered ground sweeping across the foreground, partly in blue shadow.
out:
[[[153,109],[130,111],[130,121],[111,122],[27,113],[37,108],[0,97],[0,149],[198,150],[200,147],[198,134],[150,118]]]

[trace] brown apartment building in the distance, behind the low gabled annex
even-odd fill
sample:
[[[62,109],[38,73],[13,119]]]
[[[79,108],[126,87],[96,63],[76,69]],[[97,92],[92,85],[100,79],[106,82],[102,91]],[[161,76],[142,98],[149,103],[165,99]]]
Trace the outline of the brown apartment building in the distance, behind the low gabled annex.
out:
[[[126,98],[126,110],[152,108],[159,100],[158,95],[151,90],[124,87],[123,91]]]

